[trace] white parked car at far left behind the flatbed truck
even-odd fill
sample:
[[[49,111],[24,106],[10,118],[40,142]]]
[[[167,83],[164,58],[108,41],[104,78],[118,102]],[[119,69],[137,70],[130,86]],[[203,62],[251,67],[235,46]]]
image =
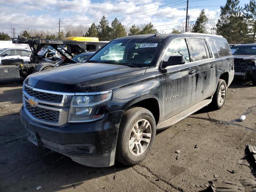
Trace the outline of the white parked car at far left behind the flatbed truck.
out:
[[[30,62],[31,52],[24,48],[2,48],[0,49],[0,64],[2,59],[18,58],[24,62]]]

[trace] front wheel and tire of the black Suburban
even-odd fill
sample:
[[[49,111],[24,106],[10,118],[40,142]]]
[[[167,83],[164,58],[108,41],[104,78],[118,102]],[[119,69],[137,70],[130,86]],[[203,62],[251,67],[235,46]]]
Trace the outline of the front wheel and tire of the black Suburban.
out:
[[[149,137],[150,133],[151,137]],[[126,110],[118,132],[116,160],[127,166],[142,162],[150,152],[155,136],[156,121],[149,110],[141,107]]]

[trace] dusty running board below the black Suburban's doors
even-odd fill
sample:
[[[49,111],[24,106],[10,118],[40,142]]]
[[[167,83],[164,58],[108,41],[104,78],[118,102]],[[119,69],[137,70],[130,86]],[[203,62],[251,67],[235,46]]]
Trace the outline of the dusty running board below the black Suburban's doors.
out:
[[[161,129],[166,129],[170,126],[173,126],[174,124],[178,123],[179,121],[186,118],[187,116],[193,114],[194,112],[196,112],[196,111],[202,109],[203,107],[205,107],[206,105],[210,104],[210,102],[212,102],[212,99],[203,100],[203,101],[191,106],[190,108],[187,108],[186,110],[164,120],[163,122],[161,122],[160,124],[157,125],[156,129],[161,130]]]

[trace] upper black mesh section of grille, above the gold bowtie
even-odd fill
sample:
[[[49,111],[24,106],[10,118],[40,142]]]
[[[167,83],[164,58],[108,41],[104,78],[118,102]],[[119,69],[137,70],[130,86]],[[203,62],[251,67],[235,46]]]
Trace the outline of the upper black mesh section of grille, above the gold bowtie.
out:
[[[58,102],[58,103],[62,102],[63,95],[39,92],[27,86],[25,86],[24,89],[27,92],[27,94],[39,100],[45,100],[49,102]]]

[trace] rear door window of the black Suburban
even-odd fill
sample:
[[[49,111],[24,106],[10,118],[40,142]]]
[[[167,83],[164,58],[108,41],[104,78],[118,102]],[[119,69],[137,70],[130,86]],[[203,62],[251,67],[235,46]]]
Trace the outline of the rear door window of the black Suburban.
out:
[[[207,59],[206,48],[204,42],[200,38],[189,38],[188,39],[191,52],[194,56],[193,61],[199,61],[202,59]]]

